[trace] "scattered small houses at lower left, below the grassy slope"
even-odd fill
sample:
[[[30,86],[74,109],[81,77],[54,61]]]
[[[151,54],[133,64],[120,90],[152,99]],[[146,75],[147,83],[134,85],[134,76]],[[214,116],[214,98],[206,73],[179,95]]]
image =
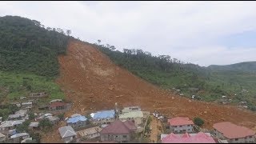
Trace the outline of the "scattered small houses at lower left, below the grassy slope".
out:
[[[19,110],[16,111],[14,114],[8,115],[8,117],[5,120],[0,118],[0,143],[20,143],[26,142],[26,140],[32,140],[32,138],[30,138],[30,134],[18,133],[16,128],[17,126],[22,125],[23,122],[26,122],[26,120],[29,119],[28,112],[31,111],[32,108],[34,110],[37,98],[44,98],[46,96],[46,93],[34,93],[30,94],[30,98],[34,99],[30,99],[28,102],[24,102],[24,100],[26,100],[26,97],[21,97],[20,99],[22,99],[23,102],[12,103],[13,105],[18,106]],[[43,109],[46,113],[34,113],[36,118],[34,118],[33,122],[30,122],[29,129],[39,130],[38,125],[43,118],[49,119],[52,124],[58,123],[60,121],[60,118],[50,113],[58,110],[68,110],[69,108],[70,105],[65,102],[62,102],[61,99],[55,99],[50,101],[46,108]]]

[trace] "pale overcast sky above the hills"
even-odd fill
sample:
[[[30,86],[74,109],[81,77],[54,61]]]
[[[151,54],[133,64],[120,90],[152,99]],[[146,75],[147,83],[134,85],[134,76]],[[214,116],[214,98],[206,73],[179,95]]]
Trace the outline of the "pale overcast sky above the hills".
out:
[[[5,15],[199,66],[256,61],[256,2],[0,2]]]

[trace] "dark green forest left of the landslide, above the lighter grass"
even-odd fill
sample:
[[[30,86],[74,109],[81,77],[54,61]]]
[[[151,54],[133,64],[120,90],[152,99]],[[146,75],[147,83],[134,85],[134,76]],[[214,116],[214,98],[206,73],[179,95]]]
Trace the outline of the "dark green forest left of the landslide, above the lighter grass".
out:
[[[67,41],[59,28],[18,16],[0,17],[0,70],[54,77],[57,54],[65,53]]]

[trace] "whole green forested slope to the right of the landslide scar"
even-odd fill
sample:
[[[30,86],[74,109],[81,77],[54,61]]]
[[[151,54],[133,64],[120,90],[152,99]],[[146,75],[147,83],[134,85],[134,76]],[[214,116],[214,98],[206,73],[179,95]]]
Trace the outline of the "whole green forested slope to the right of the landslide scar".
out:
[[[138,77],[164,89],[181,90],[179,94],[209,102],[222,102],[222,95],[233,100],[231,103],[247,101],[251,110],[255,110],[256,73],[239,70],[211,70],[191,63],[184,63],[168,55],[152,56],[143,50],[115,50],[114,46],[94,44],[118,66],[130,70]],[[242,93],[246,89],[250,92]],[[234,95],[236,94],[236,95]]]

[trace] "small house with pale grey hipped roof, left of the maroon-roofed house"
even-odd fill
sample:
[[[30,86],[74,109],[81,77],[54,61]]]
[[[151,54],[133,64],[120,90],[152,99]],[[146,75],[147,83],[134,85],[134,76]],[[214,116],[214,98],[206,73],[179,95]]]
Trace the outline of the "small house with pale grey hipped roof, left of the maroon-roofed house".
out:
[[[65,143],[71,142],[77,137],[77,134],[75,133],[74,129],[71,126],[60,127],[58,128],[58,132],[59,134],[61,134],[62,140]]]

